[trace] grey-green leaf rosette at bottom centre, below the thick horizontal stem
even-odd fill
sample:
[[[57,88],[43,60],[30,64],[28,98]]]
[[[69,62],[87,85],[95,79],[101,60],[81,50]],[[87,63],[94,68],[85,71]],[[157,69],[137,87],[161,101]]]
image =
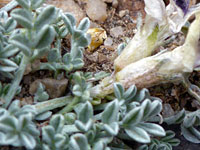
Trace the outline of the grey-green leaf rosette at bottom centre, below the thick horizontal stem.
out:
[[[70,135],[69,150],[109,150],[107,144],[113,136],[105,132],[104,124],[95,122],[91,103],[78,104],[75,112],[75,118],[70,115],[66,117],[67,122],[74,120],[73,124],[67,124],[63,129],[64,133]]]

